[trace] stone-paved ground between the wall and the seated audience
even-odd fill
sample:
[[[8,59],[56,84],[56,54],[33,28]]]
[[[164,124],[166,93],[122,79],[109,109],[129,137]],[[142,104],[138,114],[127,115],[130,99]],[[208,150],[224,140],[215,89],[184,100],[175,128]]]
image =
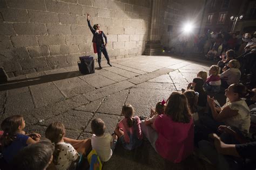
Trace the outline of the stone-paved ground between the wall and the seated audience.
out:
[[[199,70],[208,72],[209,63],[171,56],[136,56],[112,60],[109,67],[95,74],[82,75],[78,67],[61,68],[15,77],[0,85],[1,122],[11,115],[22,114],[26,132],[44,136],[54,121],[63,122],[66,136],[91,137],[90,122],[102,118],[106,132],[112,133],[122,118],[122,105],[130,103],[135,115],[149,116],[150,108],[166,100],[172,91],[186,88]],[[205,161],[196,157],[181,164],[164,161],[148,142],[136,151],[117,147],[104,169],[205,169]]]

